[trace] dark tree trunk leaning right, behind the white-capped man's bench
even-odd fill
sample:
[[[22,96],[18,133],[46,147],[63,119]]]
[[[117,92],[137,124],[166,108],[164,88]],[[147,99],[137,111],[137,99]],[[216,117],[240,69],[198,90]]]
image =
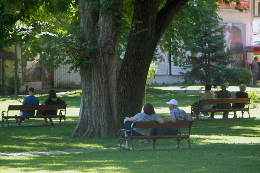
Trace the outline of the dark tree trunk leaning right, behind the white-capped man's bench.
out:
[[[122,126],[124,117],[134,116],[141,111],[147,73],[156,45],[187,0],[167,0],[165,6],[158,11],[161,2],[135,2],[132,19],[134,30],[130,32],[117,82],[119,126]]]

